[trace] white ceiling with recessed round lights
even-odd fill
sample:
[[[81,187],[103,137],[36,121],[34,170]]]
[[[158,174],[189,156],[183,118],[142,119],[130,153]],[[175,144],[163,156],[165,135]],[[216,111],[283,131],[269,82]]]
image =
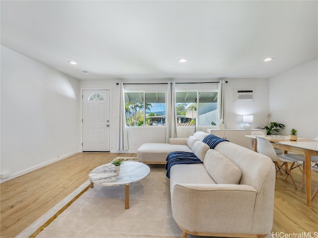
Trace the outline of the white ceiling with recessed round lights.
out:
[[[1,0],[1,45],[78,79],[270,77],[318,57],[317,3]]]

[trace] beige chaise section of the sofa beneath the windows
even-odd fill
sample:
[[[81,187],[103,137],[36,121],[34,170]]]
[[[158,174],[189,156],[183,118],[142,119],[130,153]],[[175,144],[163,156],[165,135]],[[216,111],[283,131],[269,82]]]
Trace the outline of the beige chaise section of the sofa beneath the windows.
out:
[[[165,164],[170,152],[192,152],[196,141],[202,141],[208,133],[197,131],[188,138],[170,138],[169,143],[145,143],[137,150],[137,160],[146,164]]]

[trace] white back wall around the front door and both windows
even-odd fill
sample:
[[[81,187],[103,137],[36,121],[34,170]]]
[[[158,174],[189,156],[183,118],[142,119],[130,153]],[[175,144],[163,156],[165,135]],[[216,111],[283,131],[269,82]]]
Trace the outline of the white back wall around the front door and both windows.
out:
[[[267,123],[266,114],[269,111],[269,89],[268,79],[227,79],[229,83],[226,84],[227,94],[227,119],[225,121],[226,128],[242,128],[243,123],[241,122],[241,115],[254,115],[254,123],[251,124],[252,128],[263,127]],[[79,81],[79,92],[82,89],[110,89],[111,90],[111,104],[112,104],[112,118],[111,118],[111,152],[117,151],[118,142],[118,115],[119,115],[119,86],[116,85],[120,82],[120,79],[105,79],[105,80],[80,80]],[[176,80],[181,82],[181,80]],[[188,80],[193,82],[194,80]],[[201,80],[200,80],[201,81]],[[216,80],[213,80],[216,81]],[[124,83],[141,83],[143,80],[130,80],[123,81]],[[153,81],[152,81],[153,82]],[[156,82],[167,82],[167,80],[157,80]],[[192,85],[185,85],[178,87],[189,87],[188,89],[194,89]],[[198,84],[196,87],[207,89],[205,84]],[[217,89],[217,84],[210,84],[210,89]],[[236,89],[252,89],[254,90],[254,102],[234,102],[234,92]],[[80,115],[81,117],[81,115]],[[206,131],[206,127],[197,127],[196,130]],[[81,128],[80,128],[81,129]],[[178,127],[178,136],[187,137],[194,133],[194,127]],[[137,149],[143,143],[164,143],[165,142],[165,127],[128,127],[128,144],[129,152],[136,152]],[[81,138],[80,138],[81,139]],[[81,142],[81,141],[80,141]]]

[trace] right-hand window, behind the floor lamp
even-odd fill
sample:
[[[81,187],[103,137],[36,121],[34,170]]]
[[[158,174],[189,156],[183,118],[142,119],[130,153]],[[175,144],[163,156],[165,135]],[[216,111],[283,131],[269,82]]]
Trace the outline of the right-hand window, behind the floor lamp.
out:
[[[176,92],[176,115],[178,126],[211,126],[217,124],[218,92]],[[198,111],[197,119],[186,118],[186,111]]]

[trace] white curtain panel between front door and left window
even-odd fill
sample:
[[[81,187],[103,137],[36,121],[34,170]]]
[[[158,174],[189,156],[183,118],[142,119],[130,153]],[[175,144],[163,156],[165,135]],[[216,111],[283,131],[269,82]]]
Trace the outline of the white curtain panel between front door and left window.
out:
[[[128,138],[126,131],[126,117],[125,117],[125,94],[124,84],[119,83],[119,141],[118,150],[128,150]]]

